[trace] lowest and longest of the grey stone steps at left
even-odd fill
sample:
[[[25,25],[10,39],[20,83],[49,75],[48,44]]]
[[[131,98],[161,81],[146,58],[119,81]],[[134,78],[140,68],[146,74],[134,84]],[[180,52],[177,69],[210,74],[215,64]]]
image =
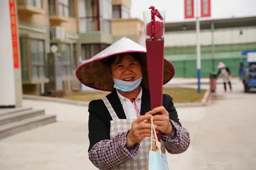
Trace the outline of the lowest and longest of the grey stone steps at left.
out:
[[[0,139],[25,130],[56,122],[55,115],[40,115],[0,126]]]

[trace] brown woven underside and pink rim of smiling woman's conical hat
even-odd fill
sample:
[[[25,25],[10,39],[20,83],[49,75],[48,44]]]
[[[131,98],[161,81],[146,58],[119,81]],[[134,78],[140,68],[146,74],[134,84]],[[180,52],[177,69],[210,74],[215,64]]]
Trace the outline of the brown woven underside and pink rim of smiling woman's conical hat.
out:
[[[141,65],[143,68],[143,80],[142,85],[148,89],[148,69],[147,69],[147,58],[145,51],[119,51],[102,57],[91,58],[87,62],[79,65],[76,69],[76,77],[79,81],[87,87],[94,88],[100,91],[113,91],[114,82],[109,76],[107,66],[103,65],[100,61],[111,57],[116,54],[137,52],[142,54]],[[163,64],[163,85],[169,82],[175,74],[175,68],[172,62],[164,59]]]

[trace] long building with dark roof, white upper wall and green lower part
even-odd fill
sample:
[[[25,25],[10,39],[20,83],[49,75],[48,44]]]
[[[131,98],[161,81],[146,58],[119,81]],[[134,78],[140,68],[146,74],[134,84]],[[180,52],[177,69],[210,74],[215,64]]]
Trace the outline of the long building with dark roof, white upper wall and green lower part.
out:
[[[202,20],[201,75],[209,77],[224,62],[238,76],[242,51],[256,50],[256,17]],[[166,23],[165,57],[175,65],[175,77],[197,77],[195,21]]]

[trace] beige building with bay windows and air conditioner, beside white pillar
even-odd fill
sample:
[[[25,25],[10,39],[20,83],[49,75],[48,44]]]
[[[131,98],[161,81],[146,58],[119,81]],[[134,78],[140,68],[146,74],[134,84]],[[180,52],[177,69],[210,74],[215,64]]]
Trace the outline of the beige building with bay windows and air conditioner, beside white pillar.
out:
[[[24,94],[71,90],[78,65],[77,6],[77,0],[17,0]],[[52,56],[56,63],[50,66]]]

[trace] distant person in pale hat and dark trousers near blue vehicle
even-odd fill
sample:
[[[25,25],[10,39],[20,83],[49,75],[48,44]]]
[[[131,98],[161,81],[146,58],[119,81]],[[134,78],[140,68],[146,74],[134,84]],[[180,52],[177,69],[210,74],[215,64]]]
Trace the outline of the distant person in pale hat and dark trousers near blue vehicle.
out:
[[[223,63],[223,62],[219,62],[218,63],[218,68],[219,71],[217,73],[217,77],[219,74],[222,75],[223,78],[223,84],[224,84],[224,91],[227,91],[227,83],[230,86],[230,91],[232,91],[232,87],[231,87],[231,82],[230,82],[230,78],[231,78],[231,72],[230,69]]]

